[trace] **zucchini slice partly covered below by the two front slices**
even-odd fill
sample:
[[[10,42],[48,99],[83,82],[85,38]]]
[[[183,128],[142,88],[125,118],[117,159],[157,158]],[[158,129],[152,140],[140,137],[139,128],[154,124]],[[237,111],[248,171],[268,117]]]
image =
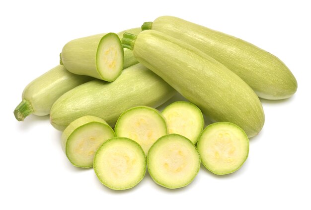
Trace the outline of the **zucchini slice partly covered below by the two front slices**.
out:
[[[167,134],[162,114],[148,106],[136,106],[124,111],[114,129],[117,137],[127,137],[139,143],[146,155],[156,140]]]

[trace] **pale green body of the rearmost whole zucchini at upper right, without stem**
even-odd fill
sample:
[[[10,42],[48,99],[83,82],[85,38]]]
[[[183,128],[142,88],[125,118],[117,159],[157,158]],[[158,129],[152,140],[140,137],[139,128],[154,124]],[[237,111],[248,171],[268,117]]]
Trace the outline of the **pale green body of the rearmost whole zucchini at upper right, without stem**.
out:
[[[291,97],[297,81],[276,56],[231,35],[172,16],[161,16],[152,29],[178,38],[218,60],[242,78],[263,99]]]

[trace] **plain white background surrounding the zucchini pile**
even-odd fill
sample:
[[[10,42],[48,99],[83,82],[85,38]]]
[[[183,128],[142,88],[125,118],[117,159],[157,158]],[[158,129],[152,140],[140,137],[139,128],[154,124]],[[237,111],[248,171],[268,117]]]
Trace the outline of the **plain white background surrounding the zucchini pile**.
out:
[[[310,10],[306,1],[1,1],[0,209],[311,209]],[[292,3],[295,2],[295,3]],[[266,122],[243,167],[216,176],[201,167],[168,190],[146,174],[112,191],[92,169],[73,167],[48,116],[18,122],[24,87],[59,62],[78,37],[140,27],[173,15],[249,41],[278,56],[298,81],[294,97],[262,100]],[[309,201],[308,201],[309,200]]]

